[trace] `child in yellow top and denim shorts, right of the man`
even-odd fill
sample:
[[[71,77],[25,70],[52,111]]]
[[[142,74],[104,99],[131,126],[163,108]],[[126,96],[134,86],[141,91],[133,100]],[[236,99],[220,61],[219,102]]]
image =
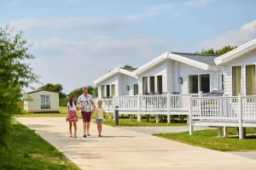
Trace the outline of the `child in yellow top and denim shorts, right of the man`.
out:
[[[102,122],[103,122],[103,118],[106,118],[106,112],[102,108],[102,101],[98,101],[98,107],[96,107],[96,109],[93,112],[96,112],[96,123],[97,123],[98,133],[99,133],[99,137],[102,137]]]

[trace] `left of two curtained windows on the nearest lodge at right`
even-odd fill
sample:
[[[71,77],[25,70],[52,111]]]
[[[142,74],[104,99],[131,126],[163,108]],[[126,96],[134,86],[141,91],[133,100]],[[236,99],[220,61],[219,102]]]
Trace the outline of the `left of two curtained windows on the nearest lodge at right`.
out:
[[[241,93],[241,66],[232,67],[232,89],[233,96]]]

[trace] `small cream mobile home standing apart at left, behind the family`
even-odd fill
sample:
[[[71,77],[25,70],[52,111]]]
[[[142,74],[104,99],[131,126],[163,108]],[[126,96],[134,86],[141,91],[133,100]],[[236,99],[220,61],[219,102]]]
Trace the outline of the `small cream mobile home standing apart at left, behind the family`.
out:
[[[24,94],[24,110],[28,112],[59,111],[59,93],[37,90]]]

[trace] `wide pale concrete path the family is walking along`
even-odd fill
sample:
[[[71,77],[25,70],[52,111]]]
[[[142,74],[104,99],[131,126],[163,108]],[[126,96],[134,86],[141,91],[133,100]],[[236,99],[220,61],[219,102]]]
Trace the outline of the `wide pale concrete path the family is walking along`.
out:
[[[59,117],[18,118],[64,153],[81,169],[255,169],[256,161],[224,152],[207,150],[160,139],[120,127],[103,127],[103,138],[92,124],[89,138],[69,138],[67,122]]]

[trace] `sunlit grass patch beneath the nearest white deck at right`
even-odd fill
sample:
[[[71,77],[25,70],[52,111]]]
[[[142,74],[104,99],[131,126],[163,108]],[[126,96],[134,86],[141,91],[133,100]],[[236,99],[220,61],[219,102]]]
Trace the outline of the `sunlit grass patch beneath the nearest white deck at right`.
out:
[[[256,129],[247,128],[247,134],[256,133]],[[228,135],[236,135],[235,127],[228,128]],[[237,137],[218,138],[218,129],[195,131],[192,136],[189,133],[160,133],[155,136],[172,139],[185,144],[201,146],[211,150],[220,151],[245,151],[256,150],[256,138],[238,139]]]

